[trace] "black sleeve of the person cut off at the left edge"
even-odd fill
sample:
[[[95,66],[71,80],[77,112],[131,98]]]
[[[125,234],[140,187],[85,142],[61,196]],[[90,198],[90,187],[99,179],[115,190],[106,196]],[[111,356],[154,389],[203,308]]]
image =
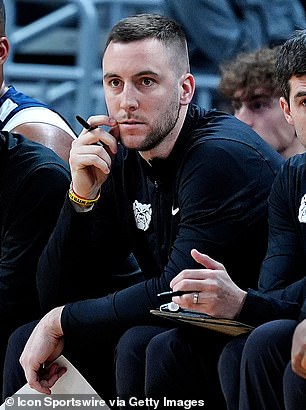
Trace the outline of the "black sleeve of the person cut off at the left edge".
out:
[[[58,218],[70,182],[55,164],[36,167],[17,188],[3,223],[0,321],[14,327],[39,315],[37,261]]]

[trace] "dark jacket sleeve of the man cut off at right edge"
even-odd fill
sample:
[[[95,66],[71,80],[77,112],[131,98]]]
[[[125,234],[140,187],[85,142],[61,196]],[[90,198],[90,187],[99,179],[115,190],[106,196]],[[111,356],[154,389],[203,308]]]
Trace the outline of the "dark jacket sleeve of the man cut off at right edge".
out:
[[[306,192],[305,167],[288,160],[269,198],[269,242],[261,267],[259,290],[278,299],[302,304],[306,298],[305,223],[298,219]],[[303,190],[304,189],[304,190]]]

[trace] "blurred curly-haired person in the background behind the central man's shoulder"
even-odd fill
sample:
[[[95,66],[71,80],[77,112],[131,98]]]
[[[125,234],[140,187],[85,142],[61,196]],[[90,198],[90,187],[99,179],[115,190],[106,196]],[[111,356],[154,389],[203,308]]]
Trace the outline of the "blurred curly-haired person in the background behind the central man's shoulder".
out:
[[[275,62],[279,46],[239,54],[220,66],[219,93],[231,102],[234,115],[248,124],[284,158],[305,148],[280,107],[281,87]]]

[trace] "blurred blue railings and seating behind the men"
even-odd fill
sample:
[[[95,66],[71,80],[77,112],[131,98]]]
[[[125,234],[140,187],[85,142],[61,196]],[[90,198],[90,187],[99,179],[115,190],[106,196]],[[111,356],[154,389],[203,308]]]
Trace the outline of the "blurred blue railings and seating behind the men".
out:
[[[11,51],[7,84],[49,104],[78,133],[75,120],[105,113],[101,55],[121,18],[168,14],[186,31],[195,102],[222,107],[219,63],[239,51],[284,41],[306,27],[306,0],[4,0]],[[169,9],[167,9],[169,7]],[[193,63],[197,64],[193,64]],[[200,63],[200,64],[199,64]],[[213,67],[213,69],[209,69]],[[217,104],[216,104],[217,102]]]

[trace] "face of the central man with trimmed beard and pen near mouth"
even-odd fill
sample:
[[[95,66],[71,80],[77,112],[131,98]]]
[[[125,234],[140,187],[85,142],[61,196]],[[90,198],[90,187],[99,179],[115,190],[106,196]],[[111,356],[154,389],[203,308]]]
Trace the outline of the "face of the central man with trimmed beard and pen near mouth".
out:
[[[177,124],[180,83],[169,51],[155,39],[111,42],[103,57],[103,85],[109,116],[131,149],[155,148]]]

